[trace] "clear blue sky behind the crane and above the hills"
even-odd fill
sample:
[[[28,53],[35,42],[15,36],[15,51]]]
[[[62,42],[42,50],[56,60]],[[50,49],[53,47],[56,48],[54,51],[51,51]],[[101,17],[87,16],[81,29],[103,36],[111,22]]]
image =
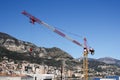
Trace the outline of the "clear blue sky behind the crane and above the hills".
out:
[[[82,44],[85,36],[95,49],[90,58],[120,59],[120,0],[0,0],[0,32],[40,47],[58,47],[78,58],[82,47],[39,24],[30,24],[23,10]]]

